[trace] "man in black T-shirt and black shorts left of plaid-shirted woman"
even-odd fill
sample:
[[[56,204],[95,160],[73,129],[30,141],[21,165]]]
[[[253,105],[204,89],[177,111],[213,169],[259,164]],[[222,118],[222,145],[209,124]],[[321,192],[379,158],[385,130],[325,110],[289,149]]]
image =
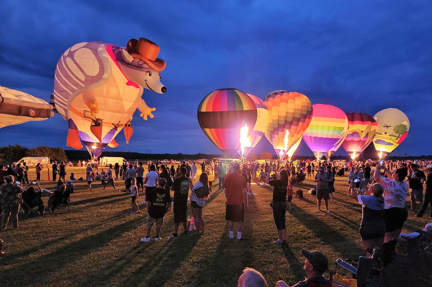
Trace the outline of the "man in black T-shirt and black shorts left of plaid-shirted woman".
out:
[[[180,167],[180,177],[174,180],[171,190],[174,191],[174,232],[168,238],[178,236],[178,226],[183,224],[183,233],[187,233],[187,195],[192,186],[190,177],[186,177],[186,167]]]

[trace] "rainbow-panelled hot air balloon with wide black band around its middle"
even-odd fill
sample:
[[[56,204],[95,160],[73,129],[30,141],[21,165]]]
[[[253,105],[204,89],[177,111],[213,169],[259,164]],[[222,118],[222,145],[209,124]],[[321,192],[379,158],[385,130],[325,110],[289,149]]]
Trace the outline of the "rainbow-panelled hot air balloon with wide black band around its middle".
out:
[[[240,129],[252,129],[257,122],[257,106],[245,92],[235,88],[212,91],[200,102],[198,123],[206,136],[222,152],[240,148]]]

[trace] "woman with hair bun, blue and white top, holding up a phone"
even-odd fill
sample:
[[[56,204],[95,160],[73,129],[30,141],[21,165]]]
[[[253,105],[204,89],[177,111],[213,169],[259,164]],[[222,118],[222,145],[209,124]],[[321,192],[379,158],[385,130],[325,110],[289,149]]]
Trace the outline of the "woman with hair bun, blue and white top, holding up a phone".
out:
[[[365,190],[366,196],[357,195],[353,192],[353,199],[362,205],[362,219],[360,221],[360,236],[362,237],[363,247],[381,247],[384,243],[385,222],[384,213],[384,187],[379,183],[372,184],[371,187],[360,182]],[[366,251],[366,256],[371,256]]]

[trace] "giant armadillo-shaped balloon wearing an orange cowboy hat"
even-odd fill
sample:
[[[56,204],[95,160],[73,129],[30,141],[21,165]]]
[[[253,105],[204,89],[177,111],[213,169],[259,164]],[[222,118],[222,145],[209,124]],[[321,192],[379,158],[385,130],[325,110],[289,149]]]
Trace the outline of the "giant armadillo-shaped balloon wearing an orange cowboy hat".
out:
[[[118,145],[114,137],[135,110],[144,120],[153,117],[156,108],[147,106],[141,95],[144,88],[166,91],[160,82],[165,61],[157,58],[159,50],[140,38],[131,39],[126,48],[84,42],[64,52],[55,70],[51,104],[69,123],[68,146],[82,148],[81,139],[97,157],[107,145]]]

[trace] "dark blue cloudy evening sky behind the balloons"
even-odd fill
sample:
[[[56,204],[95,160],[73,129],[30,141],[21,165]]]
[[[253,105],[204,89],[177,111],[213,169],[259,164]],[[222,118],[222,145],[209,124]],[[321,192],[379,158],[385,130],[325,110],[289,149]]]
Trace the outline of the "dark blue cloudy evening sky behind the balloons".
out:
[[[298,91],[312,104],[372,116],[402,110],[410,132],[391,155],[429,155],[432,94],[432,2],[416,1],[31,1],[3,0],[0,85],[49,101],[54,70],[73,44],[125,47],[148,38],[166,61],[165,94],[144,90],[156,107],[134,114],[133,136],[109,151],[219,153],[197,121],[202,98],[238,88],[263,99]],[[67,121],[0,129],[1,146],[66,146]],[[268,150],[263,138],[255,151]],[[302,143],[297,154],[311,154]],[[336,155],[346,154],[343,148]]]

